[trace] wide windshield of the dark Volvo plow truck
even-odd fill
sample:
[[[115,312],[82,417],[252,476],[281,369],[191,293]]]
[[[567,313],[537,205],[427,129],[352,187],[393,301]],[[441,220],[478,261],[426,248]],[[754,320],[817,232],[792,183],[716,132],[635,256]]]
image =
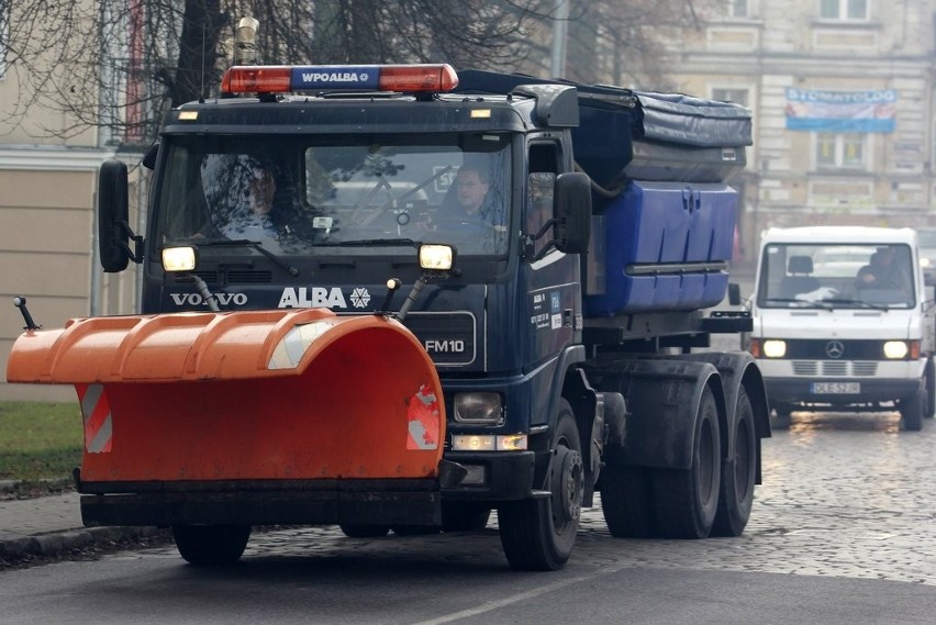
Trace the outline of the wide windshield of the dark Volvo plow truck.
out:
[[[277,255],[380,255],[450,243],[504,255],[510,137],[172,136],[155,241],[250,241]]]

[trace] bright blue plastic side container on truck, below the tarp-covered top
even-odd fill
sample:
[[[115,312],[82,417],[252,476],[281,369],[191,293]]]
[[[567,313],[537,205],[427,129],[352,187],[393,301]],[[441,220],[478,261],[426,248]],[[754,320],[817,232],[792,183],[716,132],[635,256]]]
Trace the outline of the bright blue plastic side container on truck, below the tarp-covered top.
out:
[[[725,297],[737,193],[724,183],[631,182],[593,217],[603,275],[584,299],[588,316],[698,310]],[[603,258],[603,263],[602,263]]]

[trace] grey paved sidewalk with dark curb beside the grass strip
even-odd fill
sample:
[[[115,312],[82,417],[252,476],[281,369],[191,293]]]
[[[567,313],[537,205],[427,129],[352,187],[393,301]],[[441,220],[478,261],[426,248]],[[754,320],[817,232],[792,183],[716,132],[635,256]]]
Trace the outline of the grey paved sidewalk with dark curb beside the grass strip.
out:
[[[0,484],[0,492],[2,487]],[[9,486],[7,488],[10,488]],[[159,533],[156,527],[85,527],[77,492],[0,501],[0,562],[29,556],[52,557],[73,549]]]

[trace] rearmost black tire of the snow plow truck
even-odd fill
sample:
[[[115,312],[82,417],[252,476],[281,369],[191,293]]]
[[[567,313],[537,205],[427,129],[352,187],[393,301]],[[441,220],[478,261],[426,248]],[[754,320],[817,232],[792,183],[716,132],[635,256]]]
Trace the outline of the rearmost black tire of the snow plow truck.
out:
[[[754,408],[742,386],[735,405],[729,440],[734,446],[722,461],[722,488],[712,536],[740,536],[750,518],[754,484],[757,479],[757,433]]]

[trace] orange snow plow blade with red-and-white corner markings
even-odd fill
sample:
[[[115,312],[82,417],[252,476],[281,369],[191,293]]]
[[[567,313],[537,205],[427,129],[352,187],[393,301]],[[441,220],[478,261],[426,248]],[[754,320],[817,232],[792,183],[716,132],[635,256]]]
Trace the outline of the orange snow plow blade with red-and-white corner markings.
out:
[[[7,379],[75,384],[87,482],[438,476],[435,367],[402,324],[377,315],[71,320],[21,335]]]

